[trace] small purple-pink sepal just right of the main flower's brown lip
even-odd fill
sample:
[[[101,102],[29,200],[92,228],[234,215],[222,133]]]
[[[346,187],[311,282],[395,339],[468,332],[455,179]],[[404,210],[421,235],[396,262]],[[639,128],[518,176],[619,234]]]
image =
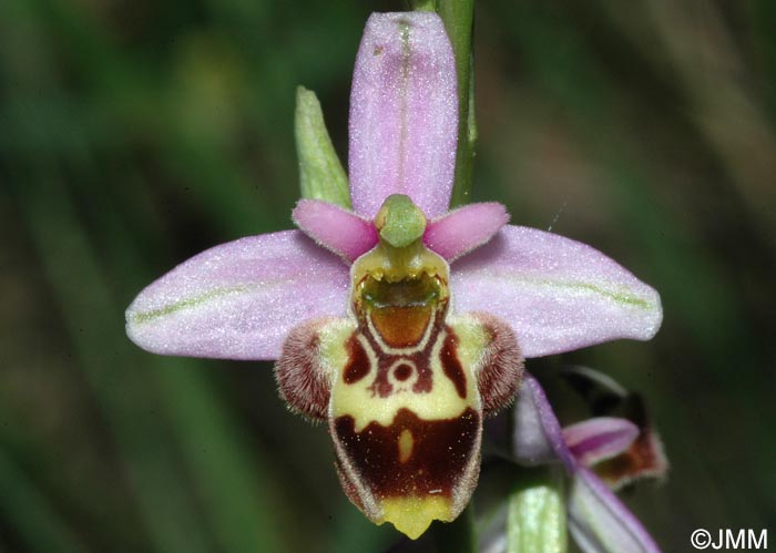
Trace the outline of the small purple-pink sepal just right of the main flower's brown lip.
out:
[[[514,402],[513,458],[535,467],[560,460],[569,472],[576,469],[563,440],[563,432],[544,390],[535,378],[525,372]]]

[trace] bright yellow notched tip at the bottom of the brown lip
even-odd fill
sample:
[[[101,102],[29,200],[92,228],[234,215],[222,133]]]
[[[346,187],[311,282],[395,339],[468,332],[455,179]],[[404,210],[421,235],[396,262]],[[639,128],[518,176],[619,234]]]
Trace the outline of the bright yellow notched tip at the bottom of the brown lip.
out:
[[[384,521],[394,524],[410,540],[420,537],[435,520],[452,522],[455,519],[450,498],[441,495],[386,498],[382,512]]]

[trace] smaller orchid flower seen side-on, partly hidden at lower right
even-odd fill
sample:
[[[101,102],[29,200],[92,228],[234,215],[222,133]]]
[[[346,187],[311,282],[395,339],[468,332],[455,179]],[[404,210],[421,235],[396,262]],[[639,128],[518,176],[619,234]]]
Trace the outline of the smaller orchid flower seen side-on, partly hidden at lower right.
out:
[[[561,429],[544,391],[530,375],[518,392],[513,420],[513,457],[519,463],[560,462],[569,474],[569,530],[582,551],[660,552],[610,490],[635,478],[665,473],[662,446],[651,428],[627,419],[596,417]]]

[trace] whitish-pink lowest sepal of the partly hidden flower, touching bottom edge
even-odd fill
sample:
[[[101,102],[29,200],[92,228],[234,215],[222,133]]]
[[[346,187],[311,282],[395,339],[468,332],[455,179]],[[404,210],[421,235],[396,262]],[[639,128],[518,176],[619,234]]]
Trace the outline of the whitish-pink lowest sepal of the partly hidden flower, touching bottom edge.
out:
[[[568,509],[569,531],[584,553],[660,553],[641,522],[585,468],[574,474]]]

